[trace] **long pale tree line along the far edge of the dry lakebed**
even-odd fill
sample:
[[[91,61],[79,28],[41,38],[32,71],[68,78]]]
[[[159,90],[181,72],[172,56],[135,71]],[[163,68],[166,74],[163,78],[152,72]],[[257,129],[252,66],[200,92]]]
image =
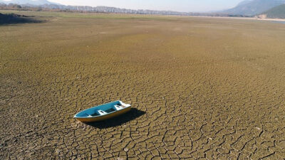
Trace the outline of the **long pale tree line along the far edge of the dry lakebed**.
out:
[[[31,5],[31,4],[1,4],[0,9],[9,10],[29,10],[29,11],[76,11],[76,12],[95,12],[95,13],[116,13],[116,14],[160,14],[160,15],[180,15],[180,16],[237,16],[242,15],[229,15],[229,14],[201,14],[191,12],[178,12],[178,11],[155,11],[148,9],[119,9],[108,6],[65,6],[57,4],[44,4],[44,5]]]

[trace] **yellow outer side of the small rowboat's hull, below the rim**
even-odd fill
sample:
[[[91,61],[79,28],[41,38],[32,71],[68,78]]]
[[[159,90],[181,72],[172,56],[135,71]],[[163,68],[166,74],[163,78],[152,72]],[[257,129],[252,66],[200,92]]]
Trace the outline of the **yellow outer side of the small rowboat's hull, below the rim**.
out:
[[[105,115],[102,115],[100,117],[76,117],[76,119],[78,119],[78,121],[80,121],[80,122],[98,122],[98,121],[103,121],[106,119],[111,119],[113,117],[117,117],[120,114],[124,114],[125,112],[129,112],[130,109],[131,109],[131,107],[126,107],[123,110],[118,110],[117,112],[105,114]]]

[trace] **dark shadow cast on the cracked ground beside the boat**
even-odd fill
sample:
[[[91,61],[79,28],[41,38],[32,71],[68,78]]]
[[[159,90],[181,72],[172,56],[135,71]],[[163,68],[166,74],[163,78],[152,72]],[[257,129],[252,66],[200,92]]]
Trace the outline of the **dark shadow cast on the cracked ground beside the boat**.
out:
[[[87,124],[91,127],[99,128],[99,129],[117,127],[117,126],[120,126],[126,122],[130,122],[131,120],[136,119],[145,113],[146,112],[143,112],[143,111],[138,110],[136,108],[132,108],[132,109],[130,109],[129,112],[127,112],[125,114],[121,114],[118,117],[114,117],[112,119],[108,119],[108,120],[105,120],[102,122],[88,122],[85,124]]]

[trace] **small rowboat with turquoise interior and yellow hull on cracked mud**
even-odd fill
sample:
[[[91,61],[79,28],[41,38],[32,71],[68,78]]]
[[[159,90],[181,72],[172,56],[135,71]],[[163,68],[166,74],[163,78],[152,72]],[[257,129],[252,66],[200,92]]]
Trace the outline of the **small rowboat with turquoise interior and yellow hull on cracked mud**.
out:
[[[74,118],[80,122],[98,122],[130,111],[131,106],[118,100],[78,112]]]

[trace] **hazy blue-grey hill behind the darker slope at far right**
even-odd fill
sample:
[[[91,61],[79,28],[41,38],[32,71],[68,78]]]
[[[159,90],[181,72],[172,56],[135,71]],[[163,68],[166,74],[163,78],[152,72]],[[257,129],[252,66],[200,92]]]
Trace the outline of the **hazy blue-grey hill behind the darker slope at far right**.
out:
[[[233,9],[222,11],[222,13],[254,16],[281,4],[285,4],[285,0],[247,0],[242,1]]]

